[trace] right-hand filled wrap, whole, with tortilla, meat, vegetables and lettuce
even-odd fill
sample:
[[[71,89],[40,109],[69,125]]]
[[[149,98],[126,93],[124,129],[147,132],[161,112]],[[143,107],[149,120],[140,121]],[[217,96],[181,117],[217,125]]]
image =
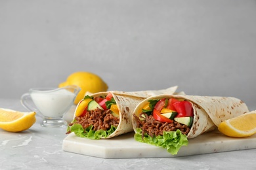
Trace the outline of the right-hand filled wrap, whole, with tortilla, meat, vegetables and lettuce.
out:
[[[224,120],[249,112],[235,97],[157,95],[140,102],[133,112],[135,140],[177,154],[181,146]]]

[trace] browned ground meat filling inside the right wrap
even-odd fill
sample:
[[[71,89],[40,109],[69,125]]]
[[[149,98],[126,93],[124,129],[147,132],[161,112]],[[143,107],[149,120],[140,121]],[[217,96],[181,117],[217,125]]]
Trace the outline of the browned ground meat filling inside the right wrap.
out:
[[[181,133],[187,135],[190,131],[190,127],[180,124],[179,122],[173,121],[173,123],[160,122],[152,115],[146,113],[140,113],[140,118],[133,114],[137,120],[137,127],[142,129],[142,139],[144,137],[144,133],[147,133],[151,137],[163,135],[163,131],[176,131],[180,129]]]

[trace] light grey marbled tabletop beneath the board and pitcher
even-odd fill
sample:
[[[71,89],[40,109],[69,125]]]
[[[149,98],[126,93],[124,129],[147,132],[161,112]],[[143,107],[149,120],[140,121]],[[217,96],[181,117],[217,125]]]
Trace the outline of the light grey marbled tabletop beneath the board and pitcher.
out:
[[[0,99],[0,107],[26,111],[18,99]],[[65,152],[66,127],[41,127],[11,133],[0,129],[0,169],[255,169],[256,149],[178,158],[104,159]]]

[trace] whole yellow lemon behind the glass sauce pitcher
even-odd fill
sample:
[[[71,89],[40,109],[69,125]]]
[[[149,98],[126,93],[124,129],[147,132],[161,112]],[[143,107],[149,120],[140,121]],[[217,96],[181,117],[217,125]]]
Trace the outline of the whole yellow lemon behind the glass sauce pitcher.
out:
[[[80,92],[75,98],[75,105],[77,105],[79,101],[85,97],[86,92],[96,93],[106,92],[108,90],[108,85],[102,80],[102,78],[100,78],[100,76],[85,71],[72,73],[68,76],[66,82],[58,84],[58,87],[62,88],[69,85],[76,85],[81,88]]]

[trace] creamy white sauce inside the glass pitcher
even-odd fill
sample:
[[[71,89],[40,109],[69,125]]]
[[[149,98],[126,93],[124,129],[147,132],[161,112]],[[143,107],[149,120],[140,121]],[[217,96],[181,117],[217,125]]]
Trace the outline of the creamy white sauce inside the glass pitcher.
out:
[[[30,95],[39,112],[50,118],[62,117],[75,98],[75,94],[66,89],[53,92],[33,92]]]

